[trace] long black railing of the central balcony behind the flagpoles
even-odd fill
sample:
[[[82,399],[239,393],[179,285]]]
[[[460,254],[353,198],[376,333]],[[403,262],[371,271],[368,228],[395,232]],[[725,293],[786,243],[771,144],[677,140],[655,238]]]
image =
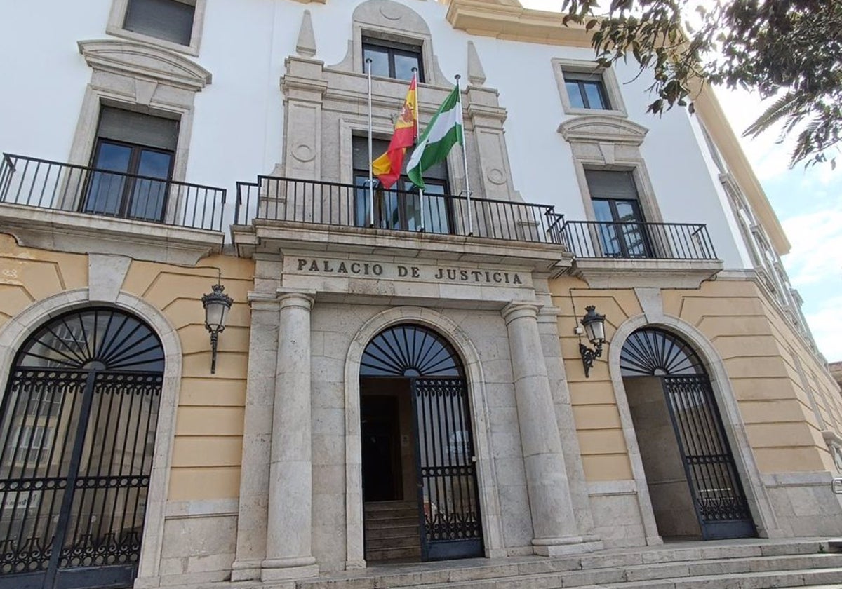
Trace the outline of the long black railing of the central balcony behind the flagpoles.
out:
[[[418,192],[382,189],[375,190],[373,215],[370,203],[362,184],[258,176],[257,183],[237,183],[234,223],[277,220],[562,244],[564,217],[546,204],[432,191],[422,202]]]

